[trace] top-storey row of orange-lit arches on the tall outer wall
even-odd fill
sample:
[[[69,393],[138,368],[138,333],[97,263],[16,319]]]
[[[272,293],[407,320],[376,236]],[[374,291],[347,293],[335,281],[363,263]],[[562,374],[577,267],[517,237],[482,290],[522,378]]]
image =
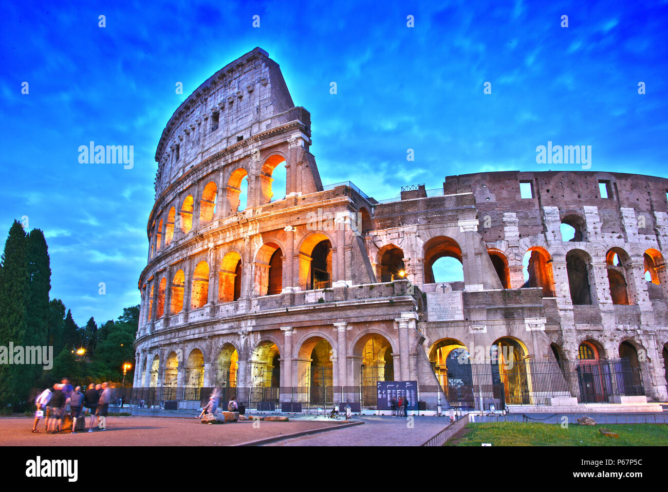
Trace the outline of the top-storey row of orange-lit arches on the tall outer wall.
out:
[[[259,190],[255,194],[259,195],[259,200],[256,205],[285,198],[285,193],[275,193],[275,190],[285,189],[287,186],[285,165],[279,165],[283,163],[285,157],[282,154],[273,154],[261,166],[257,176]],[[250,181],[248,168],[239,166],[230,172],[222,190],[222,200],[219,200],[218,183],[212,178],[204,180],[206,184],[202,187],[201,193],[197,194],[195,191],[188,193],[181,200],[175,199],[176,203],[166,207],[166,217],[161,217],[162,213],[158,214],[160,218],[155,219],[151,225],[153,233],[149,237],[149,259],[170,245],[177,233],[188,234],[193,227],[210,223],[217,217],[218,207],[224,208],[225,215],[246,209],[249,203]],[[195,218],[198,220],[194,221]]]

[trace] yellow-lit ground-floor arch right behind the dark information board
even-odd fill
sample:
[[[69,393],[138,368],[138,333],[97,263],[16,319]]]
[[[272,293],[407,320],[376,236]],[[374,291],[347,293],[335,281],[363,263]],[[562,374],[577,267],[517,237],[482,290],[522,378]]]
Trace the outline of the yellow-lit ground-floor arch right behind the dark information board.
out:
[[[353,349],[355,381],[361,386],[363,406],[376,406],[377,382],[394,381],[392,347],[382,335],[367,334],[357,340]]]

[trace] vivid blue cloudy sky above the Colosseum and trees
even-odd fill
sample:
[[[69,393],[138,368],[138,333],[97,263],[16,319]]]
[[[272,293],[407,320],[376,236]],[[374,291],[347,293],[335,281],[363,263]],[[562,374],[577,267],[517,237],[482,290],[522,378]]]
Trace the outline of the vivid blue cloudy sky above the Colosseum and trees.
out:
[[[387,199],[450,174],[576,168],[536,164],[548,140],[591,145],[592,170],[668,176],[665,1],[123,4],[7,3],[0,20],[0,231],[23,216],[45,231],[51,297],[77,324],[139,302],[162,129],[256,46],[311,112],[325,184]],[[134,145],[134,167],[80,164],[90,140]]]

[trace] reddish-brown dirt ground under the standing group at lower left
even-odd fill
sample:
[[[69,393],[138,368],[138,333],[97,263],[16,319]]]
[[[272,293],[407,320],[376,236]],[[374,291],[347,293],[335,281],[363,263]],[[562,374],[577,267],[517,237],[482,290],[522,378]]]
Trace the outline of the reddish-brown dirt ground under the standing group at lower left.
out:
[[[331,422],[228,422],[201,424],[194,417],[168,418],[145,416],[110,416],[107,430],[88,433],[81,430],[71,435],[69,430],[58,434],[44,431],[44,420],[33,434],[31,417],[0,418],[1,446],[230,446],[269,437],[279,437],[303,430],[338,426]],[[86,419],[88,424],[89,420]],[[258,426],[259,424],[259,426]]]

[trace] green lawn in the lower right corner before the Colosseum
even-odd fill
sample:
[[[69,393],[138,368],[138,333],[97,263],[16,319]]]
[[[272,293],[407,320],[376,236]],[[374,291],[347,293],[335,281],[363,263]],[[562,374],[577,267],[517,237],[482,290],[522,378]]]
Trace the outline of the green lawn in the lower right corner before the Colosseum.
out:
[[[606,437],[599,428],[619,434]],[[601,424],[595,426],[493,422],[466,424],[466,433],[446,446],[668,446],[668,424]]]

